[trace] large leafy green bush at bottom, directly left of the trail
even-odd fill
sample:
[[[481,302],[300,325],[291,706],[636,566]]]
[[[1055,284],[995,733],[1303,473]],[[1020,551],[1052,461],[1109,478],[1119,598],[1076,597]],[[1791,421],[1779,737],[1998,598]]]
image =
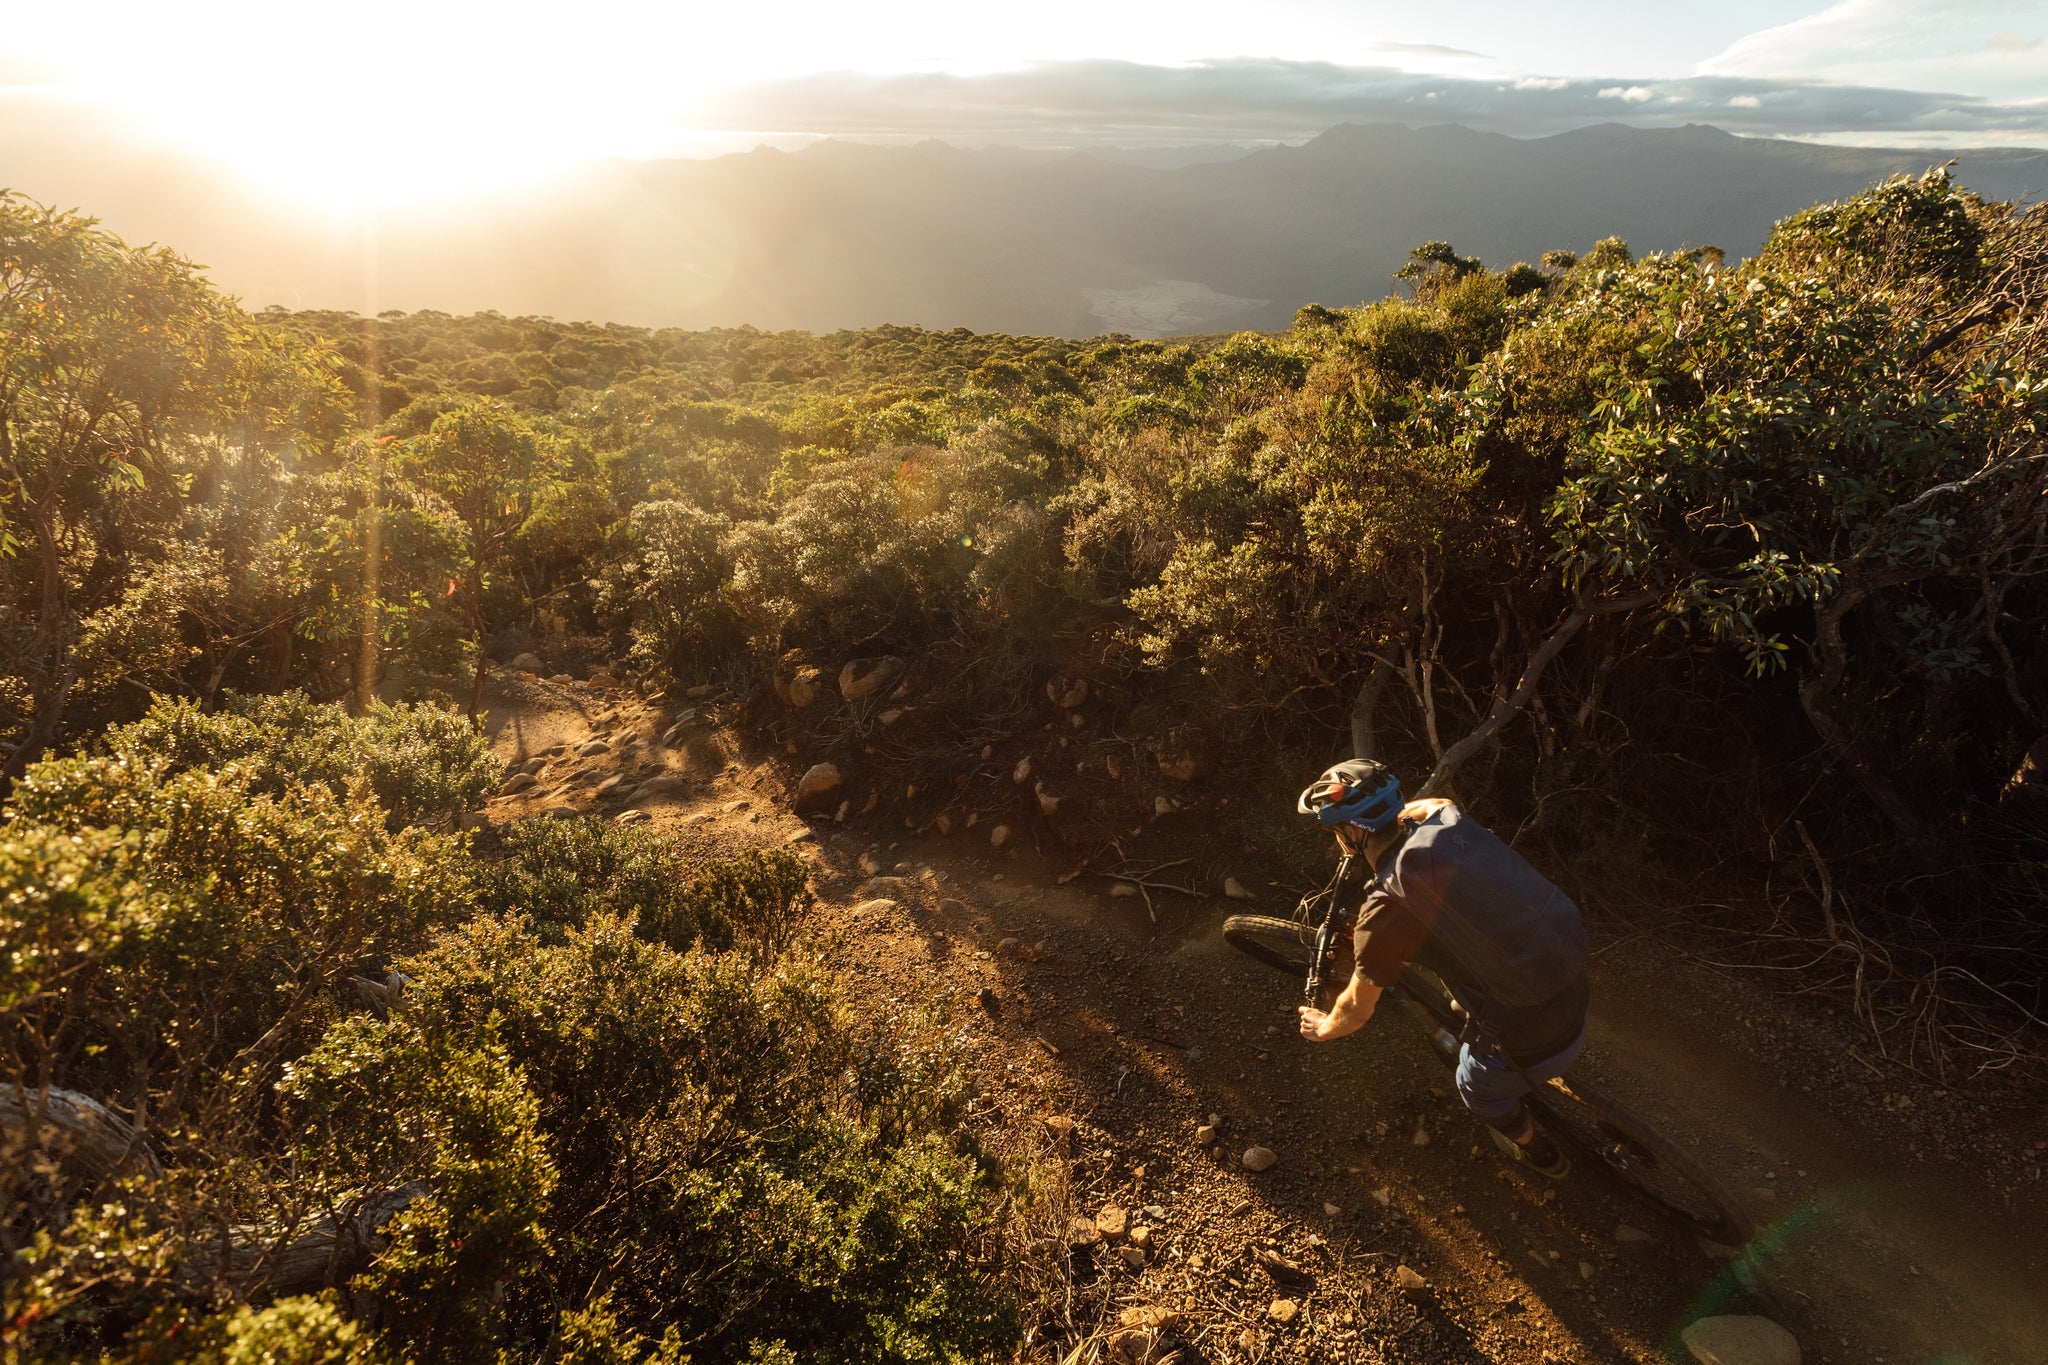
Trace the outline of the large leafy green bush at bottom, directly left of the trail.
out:
[[[801,960],[678,954],[608,913],[559,943],[477,919],[410,970],[424,1033],[496,1036],[539,1097],[547,1277],[602,1293],[571,1310],[582,1340],[819,1363],[1016,1345],[979,1238],[991,1173],[930,1021],[858,1019]],[[514,1287],[506,1312],[541,1334],[557,1304]]]

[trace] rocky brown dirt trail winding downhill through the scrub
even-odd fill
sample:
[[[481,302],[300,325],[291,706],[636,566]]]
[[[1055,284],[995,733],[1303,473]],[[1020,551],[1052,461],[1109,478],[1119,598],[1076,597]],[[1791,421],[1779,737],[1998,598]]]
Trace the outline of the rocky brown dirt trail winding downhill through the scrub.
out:
[[[1765,1304],[1597,1173],[1556,1189],[1509,1173],[1393,1011],[1337,1046],[1292,1038],[1290,986],[1221,943],[1223,900],[1174,898],[1161,931],[1106,880],[1059,884],[1071,868],[1024,841],[993,851],[985,829],[805,825],[782,755],[743,757],[713,714],[664,745],[670,712],[625,694],[516,681],[494,696],[508,759],[608,741],[557,751],[532,790],[489,804],[494,821],[616,817],[625,792],[666,776],[633,819],[686,851],[807,851],[854,999],[956,1001],[977,1124],[1065,1171],[1049,1232],[1104,1205],[1147,1228],[1141,1265],[1128,1236],[1073,1252],[1057,1314],[1075,1322],[1169,1308],[1208,1361],[1552,1365],[1683,1359],[1675,1332],[1700,1312],[1761,1310],[1808,1361],[2048,1361],[2048,1115],[1909,1085],[1825,1009],[1642,939],[1602,943],[1595,925],[1589,1056],[1751,1203]],[[1257,872],[1237,876],[1266,886]],[[1210,1113],[1221,1134],[1202,1146]],[[1272,1171],[1239,1166],[1253,1144],[1280,1154]],[[1262,1252],[1300,1277],[1276,1279]],[[1401,1293],[1399,1267],[1427,1289]]]

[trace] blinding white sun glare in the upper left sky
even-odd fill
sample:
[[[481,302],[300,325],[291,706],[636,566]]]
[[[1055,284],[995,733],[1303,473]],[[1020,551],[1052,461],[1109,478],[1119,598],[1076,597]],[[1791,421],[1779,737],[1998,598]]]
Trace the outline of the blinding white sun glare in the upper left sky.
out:
[[[12,45],[59,70],[74,96],[123,115],[158,145],[336,211],[467,196],[592,158],[659,153],[721,65],[707,43],[621,43],[629,29],[602,16],[578,14],[567,27],[561,6],[516,0],[109,0],[98,41],[47,14],[59,8],[31,16]]]

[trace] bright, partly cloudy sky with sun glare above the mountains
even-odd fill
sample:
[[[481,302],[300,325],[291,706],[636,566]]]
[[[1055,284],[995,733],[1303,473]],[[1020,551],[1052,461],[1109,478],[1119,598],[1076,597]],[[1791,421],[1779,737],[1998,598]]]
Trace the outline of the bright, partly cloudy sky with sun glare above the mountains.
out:
[[[2048,0],[8,8],[0,162],[8,141],[68,123],[344,203],[825,135],[1268,143],[1391,119],[2048,145]]]

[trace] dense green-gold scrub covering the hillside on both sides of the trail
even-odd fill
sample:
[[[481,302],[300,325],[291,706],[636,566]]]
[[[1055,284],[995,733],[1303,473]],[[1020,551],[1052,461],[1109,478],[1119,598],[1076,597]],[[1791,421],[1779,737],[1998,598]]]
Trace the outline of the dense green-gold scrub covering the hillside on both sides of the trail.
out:
[[[1024,1175],[936,1015],[778,952],[801,866],[459,833],[522,651],[715,681],[911,823],[1049,684],[1118,737],[1069,823],[1122,821],[1110,751],[1274,794],[1374,751],[1599,913],[2025,1072],[2048,217],[1933,174],[1741,264],[1403,287],[1186,344],[246,315],[6,201],[10,1359],[1014,1347]],[[782,700],[883,655],[897,724]],[[1272,804],[1212,837],[1286,857]]]

